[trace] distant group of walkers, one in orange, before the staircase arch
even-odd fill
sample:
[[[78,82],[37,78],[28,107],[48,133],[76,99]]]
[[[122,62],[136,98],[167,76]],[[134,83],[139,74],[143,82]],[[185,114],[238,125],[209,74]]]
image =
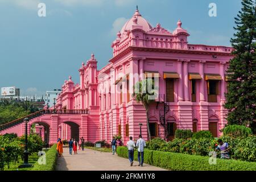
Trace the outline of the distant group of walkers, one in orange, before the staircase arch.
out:
[[[81,147],[82,150],[84,150],[84,137],[80,138],[81,140]],[[77,148],[80,150],[79,142],[75,138],[72,138],[68,142],[68,147],[69,147],[69,154],[72,155],[72,151],[74,151],[75,154],[77,154]],[[59,157],[62,156],[63,154],[63,142],[61,141],[61,138],[57,139],[57,147],[56,150],[59,154]]]

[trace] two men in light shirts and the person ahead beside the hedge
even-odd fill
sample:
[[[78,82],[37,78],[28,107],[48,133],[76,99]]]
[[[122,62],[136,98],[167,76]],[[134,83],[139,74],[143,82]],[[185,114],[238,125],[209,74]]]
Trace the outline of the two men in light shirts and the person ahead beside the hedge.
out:
[[[117,145],[117,140],[113,137],[112,140],[112,151],[113,155],[116,152],[115,146]],[[130,137],[130,140],[127,142],[127,147],[128,147],[128,158],[130,161],[130,166],[133,166],[133,159],[134,159],[134,148],[138,148],[138,162],[139,166],[143,167],[143,162],[144,162],[144,147],[146,147],[146,142],[144,139],[142,139],[142,135],[139,135],[139,139],[134,142],[133,137]]]

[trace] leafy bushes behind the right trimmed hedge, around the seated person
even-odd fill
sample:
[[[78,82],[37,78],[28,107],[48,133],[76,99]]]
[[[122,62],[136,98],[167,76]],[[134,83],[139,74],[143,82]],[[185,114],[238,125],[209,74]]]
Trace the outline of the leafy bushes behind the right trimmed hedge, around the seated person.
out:
[[[246,138],[222,136],[220,138],[223,142],[227,142],[229,144],[229,154],[232,159],[246,160],[249,162],[256,161],[255,136],[250,135]],[[165,142],[161,138],[155,138],[146,142],[146,148],[148,150],[208,156],[209,152],[216,149],[216,144],[217,140],[209,137],[199,139],[175,138],[170,142]]]

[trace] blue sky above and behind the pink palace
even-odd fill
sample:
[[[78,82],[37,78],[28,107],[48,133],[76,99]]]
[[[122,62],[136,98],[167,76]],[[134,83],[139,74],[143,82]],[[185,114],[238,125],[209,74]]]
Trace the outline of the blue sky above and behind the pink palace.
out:
[[[46,17],[38,3],[46,3]],[[217,17],[208,15],[216,3]],[[61,88],[93,52],[98,69],[112,57],[111,43],[136,5],[155,26],[173,31],[177,20],[188,42],[230,46],[241,0],[0,0],[0,87],[16,86],[22,95]]]

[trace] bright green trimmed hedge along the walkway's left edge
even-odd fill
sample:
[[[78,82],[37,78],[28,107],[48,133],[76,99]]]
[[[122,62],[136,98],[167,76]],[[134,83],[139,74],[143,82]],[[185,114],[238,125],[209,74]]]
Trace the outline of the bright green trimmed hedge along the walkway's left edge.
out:
[[[31,168],[31,171],[53,171],[55,169],[55,164],[57,160],[57,144],[53,146],[46,152],[46,164],[38,164],[36,162],[34,167]]]

